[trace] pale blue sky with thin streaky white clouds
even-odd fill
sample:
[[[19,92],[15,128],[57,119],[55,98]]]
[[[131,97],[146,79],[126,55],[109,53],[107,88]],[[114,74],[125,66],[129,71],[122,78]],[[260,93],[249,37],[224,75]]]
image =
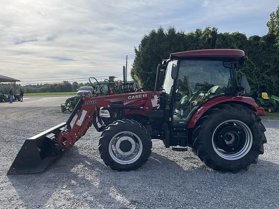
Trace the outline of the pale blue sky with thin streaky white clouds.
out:
[[[0,75],[19,84],[128,78],[152,29],[267,33],[278,0],[1,0]]]

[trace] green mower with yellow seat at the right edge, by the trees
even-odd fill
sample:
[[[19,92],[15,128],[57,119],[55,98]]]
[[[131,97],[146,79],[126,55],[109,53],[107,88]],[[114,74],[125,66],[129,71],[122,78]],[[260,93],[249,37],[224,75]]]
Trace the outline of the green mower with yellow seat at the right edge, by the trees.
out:
[[[258,107],[263,107],[264,110],[272,113],[279,110],[279,97],[275,95],[268,95],[268,83],[262,82],[258,84],[258,98],[256,99]]]

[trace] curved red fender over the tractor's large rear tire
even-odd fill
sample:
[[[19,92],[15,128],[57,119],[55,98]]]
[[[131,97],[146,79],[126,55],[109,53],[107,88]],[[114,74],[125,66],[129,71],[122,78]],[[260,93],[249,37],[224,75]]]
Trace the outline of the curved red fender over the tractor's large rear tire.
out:
[[[188,128],[194,128],[198,120],[202,117],[203,114],[207,112],[210,108],[216,106],[217,104],[241,104],[249,107],[254,112],[257,112],[257,107],[255,100],[250,97],[240,97],[240,96],[221,96],[217,97],[215,99],[209,100],[206,103],[204,103],[191,117],[191,119],[188,122]]]

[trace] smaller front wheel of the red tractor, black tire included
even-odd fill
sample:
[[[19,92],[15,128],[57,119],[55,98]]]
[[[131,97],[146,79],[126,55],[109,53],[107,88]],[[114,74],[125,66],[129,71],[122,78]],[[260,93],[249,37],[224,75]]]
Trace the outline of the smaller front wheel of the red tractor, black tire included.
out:
[[[143,165],[151,154],[151,136],[136,120],[117,120],[102,133],[99,152],[104,163],[118,171],[130,171]]]

